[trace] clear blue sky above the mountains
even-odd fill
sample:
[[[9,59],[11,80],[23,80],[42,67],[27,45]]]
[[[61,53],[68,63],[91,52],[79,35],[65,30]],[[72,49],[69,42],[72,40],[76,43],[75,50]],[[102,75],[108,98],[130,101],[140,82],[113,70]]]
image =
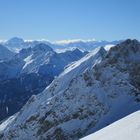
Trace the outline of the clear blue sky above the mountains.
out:
[[[0,39],[140,40],[140,0],[0,0]]]

